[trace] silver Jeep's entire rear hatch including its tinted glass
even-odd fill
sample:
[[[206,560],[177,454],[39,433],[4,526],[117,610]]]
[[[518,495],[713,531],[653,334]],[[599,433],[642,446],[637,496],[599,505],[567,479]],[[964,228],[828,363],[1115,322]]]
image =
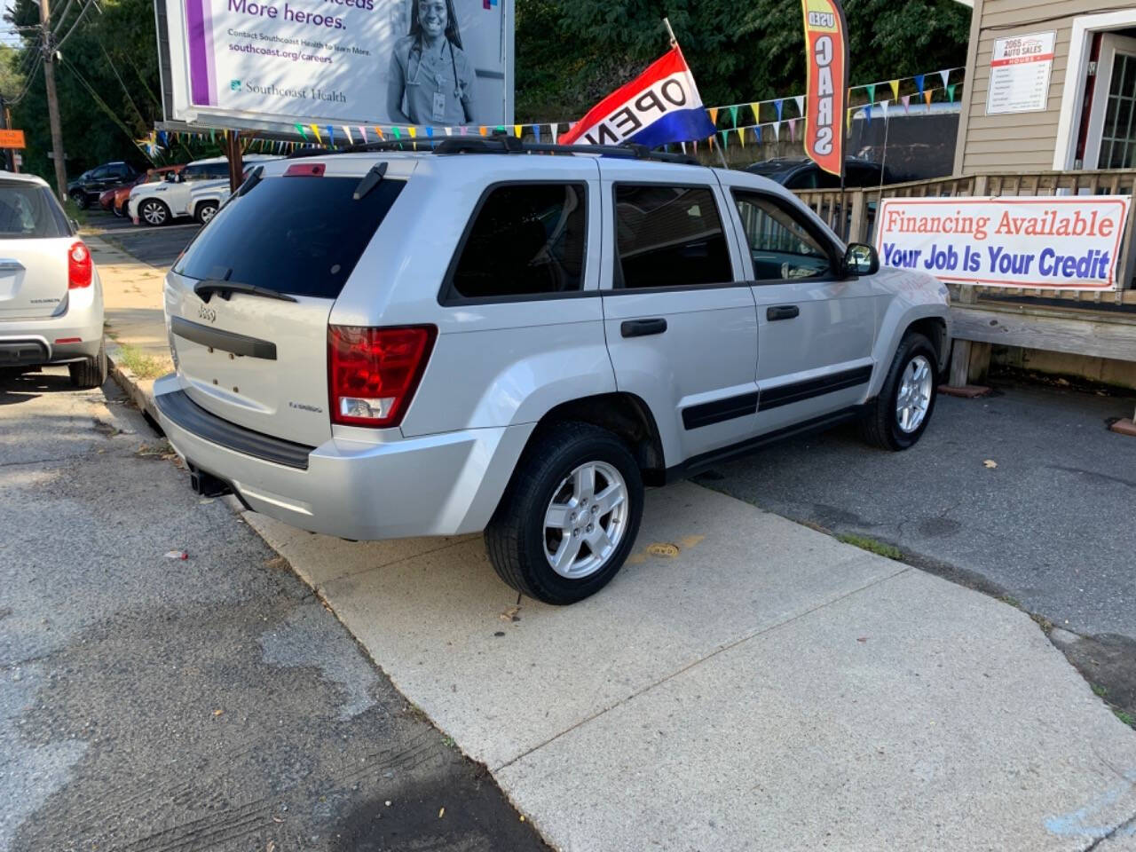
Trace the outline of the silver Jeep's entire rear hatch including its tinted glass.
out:
[[[374,165],[343,154],[266,164],[186,248],[166,277],[166,315],[197,404],[309,446],[331,437],[328,316],[414,167],[391,162],[365,182]]]

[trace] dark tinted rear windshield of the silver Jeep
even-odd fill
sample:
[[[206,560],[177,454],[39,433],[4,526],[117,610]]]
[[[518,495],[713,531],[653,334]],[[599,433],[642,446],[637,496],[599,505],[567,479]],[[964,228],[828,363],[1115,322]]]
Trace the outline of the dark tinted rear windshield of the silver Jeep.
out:
[[[336,299],[404,182],[356,201],[358,177],[266,177],[222,207],[174,272]]]

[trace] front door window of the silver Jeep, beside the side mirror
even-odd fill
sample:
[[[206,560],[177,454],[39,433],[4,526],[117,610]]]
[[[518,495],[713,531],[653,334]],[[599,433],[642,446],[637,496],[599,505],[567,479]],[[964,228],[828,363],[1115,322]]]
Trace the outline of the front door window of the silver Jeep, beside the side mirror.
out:
[[[736,192],[734,198],[755,279],[795,281],[832,273],[827,249],[785,208],[758,193]]]

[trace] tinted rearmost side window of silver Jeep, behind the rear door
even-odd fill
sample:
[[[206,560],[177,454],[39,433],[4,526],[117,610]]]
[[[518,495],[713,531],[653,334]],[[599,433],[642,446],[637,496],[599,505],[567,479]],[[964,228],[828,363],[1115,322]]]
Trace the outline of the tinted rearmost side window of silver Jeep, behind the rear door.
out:
[[[459,248],[451,296],[571,293],[583,287],[584,184],[509,184],[490,191]]]

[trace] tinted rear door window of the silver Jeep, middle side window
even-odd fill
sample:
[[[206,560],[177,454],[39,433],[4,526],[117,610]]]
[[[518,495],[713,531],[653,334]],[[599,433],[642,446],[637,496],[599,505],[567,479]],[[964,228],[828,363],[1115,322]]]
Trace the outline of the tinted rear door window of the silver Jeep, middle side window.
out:
[[[705,186],[616,186],[616,284],[684,287],[734,281],[713,192]]]

